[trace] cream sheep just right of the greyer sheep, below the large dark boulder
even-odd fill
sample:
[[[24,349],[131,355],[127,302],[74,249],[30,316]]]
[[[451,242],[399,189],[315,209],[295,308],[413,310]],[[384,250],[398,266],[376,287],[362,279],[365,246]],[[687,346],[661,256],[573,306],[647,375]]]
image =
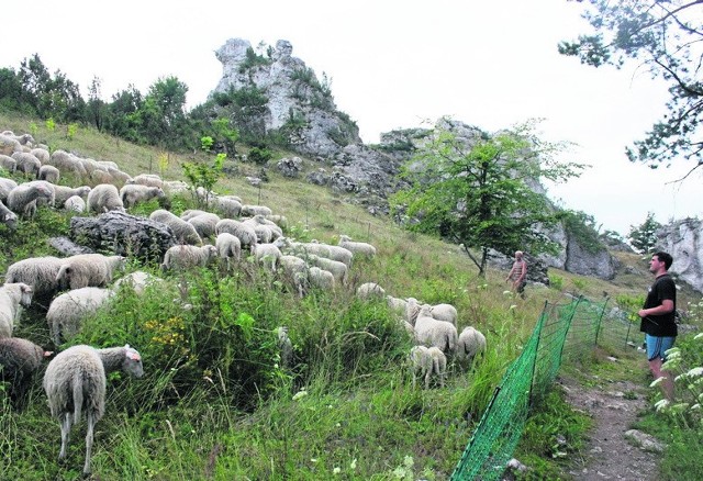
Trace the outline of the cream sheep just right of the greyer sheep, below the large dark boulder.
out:
[[[116,270],[124,268],[126,257],[103,254],[78,254],[64,259],[56,273],[59,286],[70,289],[101,288],[112,281]]]

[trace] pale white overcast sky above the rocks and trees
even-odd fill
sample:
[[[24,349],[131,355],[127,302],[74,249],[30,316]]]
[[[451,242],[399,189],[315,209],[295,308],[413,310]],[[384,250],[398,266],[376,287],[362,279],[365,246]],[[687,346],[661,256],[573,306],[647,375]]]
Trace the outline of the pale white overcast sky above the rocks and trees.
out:
[[[287,40],[326,75],[366,144],[444,115],[488,132],[543,119],[543,138],[573,144],[565,161],[591,166],[547,186],[562,208],[623,235],[650,212],[660,223],[703,216],[703,171],[676,182],[690,163],[652,170],[625,156],[666,111],[667,86],[634,63],[595,69],[558,54],[560,41],[588,32],[582,9],[566,0],[15,1],[3,5],[15,21],[3,22],[0,67],[19,70],[38,54],[83,97],[100,78],[105,100],[175,76],[192,108],[217,86],[214,52],[228,38]]]

